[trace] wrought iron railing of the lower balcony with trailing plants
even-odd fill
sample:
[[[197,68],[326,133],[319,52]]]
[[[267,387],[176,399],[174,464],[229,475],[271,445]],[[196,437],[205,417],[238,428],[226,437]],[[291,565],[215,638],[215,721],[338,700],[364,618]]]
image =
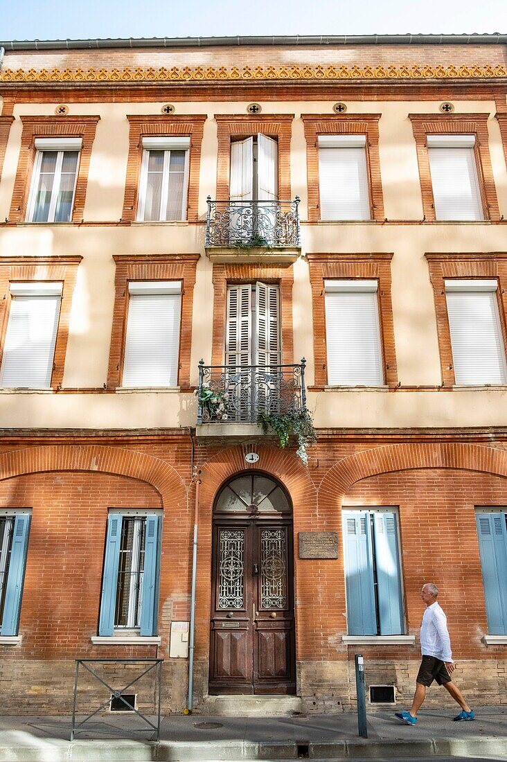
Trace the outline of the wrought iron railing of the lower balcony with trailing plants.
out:
[[[306,407],[299,365],[204,365],[199,363],[197,424],[256,423],[259,413]]]

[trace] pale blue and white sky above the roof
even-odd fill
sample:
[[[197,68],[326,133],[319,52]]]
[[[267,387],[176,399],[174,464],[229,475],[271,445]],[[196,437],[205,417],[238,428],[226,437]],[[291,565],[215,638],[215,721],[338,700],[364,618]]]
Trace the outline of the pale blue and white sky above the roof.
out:
[[[0,41],[507,34],[507,0],[0,0]]]

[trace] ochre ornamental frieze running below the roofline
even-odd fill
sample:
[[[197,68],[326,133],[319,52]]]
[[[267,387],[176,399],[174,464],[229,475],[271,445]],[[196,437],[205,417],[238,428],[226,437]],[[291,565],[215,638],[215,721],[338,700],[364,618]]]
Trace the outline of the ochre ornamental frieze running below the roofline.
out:
[[[5,69],[0,82],[248,82],[249,80],[491,79],[507,66],[173,66],[170,69]]]

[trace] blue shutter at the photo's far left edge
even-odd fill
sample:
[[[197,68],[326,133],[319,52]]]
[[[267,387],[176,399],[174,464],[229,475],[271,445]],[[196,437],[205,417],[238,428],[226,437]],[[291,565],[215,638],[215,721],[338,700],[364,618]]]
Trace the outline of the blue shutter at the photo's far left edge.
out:
[[[30,516],[28,514],[17,514],[12,530],[11,559],[8,567],[7,586],[5,588],[2,629],[0,629],[0,634],[4,636],[18,635],[29,527]]]

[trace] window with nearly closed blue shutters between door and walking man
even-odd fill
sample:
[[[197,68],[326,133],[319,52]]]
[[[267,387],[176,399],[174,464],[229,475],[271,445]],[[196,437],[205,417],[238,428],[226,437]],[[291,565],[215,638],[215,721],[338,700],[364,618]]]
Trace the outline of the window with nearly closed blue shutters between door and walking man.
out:
[[[395,511],[346,510],[342,522],[348,635],[403,635]]]

